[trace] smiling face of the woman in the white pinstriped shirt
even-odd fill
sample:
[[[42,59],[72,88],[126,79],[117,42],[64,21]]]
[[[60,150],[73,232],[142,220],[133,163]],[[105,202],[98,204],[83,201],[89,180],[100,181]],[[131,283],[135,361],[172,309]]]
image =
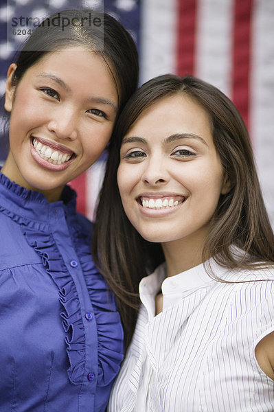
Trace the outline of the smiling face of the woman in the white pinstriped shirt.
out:
[[[203,248],[220,194],[229,189],[224,180],[207,113],[187,95],[146,108],[122,141],[122,204],[151,242]]]

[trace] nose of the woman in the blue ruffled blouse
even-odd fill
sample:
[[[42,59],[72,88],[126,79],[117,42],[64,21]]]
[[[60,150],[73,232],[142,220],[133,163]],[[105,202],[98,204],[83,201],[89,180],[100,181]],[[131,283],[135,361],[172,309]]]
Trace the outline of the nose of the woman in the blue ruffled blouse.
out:
[[[77,115],[73,108],[64,106],[58,108],[47,124],[50,132],[54,132],[59,139],[75,140],[77,133]]]

